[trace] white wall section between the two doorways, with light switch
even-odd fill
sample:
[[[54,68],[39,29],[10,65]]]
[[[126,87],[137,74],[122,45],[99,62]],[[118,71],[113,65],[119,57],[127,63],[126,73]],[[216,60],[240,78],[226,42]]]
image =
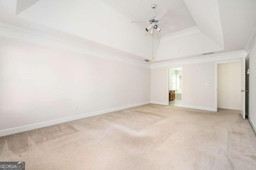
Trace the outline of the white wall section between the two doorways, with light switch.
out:
[[[183,65],[183,107],[214,110],[214,71],[214,62]]]

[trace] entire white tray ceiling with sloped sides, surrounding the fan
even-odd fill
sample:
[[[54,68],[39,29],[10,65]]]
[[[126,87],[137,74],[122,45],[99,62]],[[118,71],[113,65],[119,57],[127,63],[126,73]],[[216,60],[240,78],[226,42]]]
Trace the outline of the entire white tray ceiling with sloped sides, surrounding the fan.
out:
[[[156,62],[245,49],[256,23],[256,0],[0,0],[0,22],[143,61],[152,35],[131,20],[175,25],[154,36]]]

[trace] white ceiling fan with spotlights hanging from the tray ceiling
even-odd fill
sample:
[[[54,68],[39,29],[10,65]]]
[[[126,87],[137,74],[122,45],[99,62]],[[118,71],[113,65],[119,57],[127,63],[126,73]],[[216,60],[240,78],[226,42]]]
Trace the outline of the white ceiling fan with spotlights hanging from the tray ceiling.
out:
[[[160,26],[166,26],[169,29],[174,29],[175,26],[171,25],[171,24],[167,24],[167,23],[163,23],[163,22],[159,22],[159,20],[168,12],[168,10],[163,9],[157,16],[155,16],[155,8],[156,8],[156,4],[152,4],[151,8],[153,9],[153,16],[149,18],[148,21],[131,21],[132,23],[148,23],[150,24],[150,26],[148,26],[146,28],[146,31],[150,31],[151,34],[154,34],[154,29],[156,29],[158,32],[161,31],[161,28],[158,27],[158,25]]]

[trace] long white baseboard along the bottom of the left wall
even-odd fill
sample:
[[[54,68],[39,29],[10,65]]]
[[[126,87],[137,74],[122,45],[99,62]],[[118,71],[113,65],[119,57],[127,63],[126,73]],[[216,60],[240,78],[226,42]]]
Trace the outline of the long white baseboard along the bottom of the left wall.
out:
[[[25,132],[25,131],[33,130],[33,129],[36,129],[36,128],[48,127],[48,126],[51,126],[51,125],[56,125],[56,124],[60,124],[60,123],[64,123],[64,122],[83,119],[83,118],[86,118],[86,117],[102,115],[102,114],[105,114],[105,113],[110,113],[110,112],[114,112],[114,111],[128,109],[128,108],[131,108],[131,107],[137,107],[137,106],[146,105],[146,104],[150,104],[150,103],[151,102],[148,101],[148,102],[143,102],[143,103],[137,103],[137,104],[134,104],[134,105],[126,105],[126,106],[122,106],[122,107],[106,109],[106,110],[103,110],[103,111],[96,111],[96,112],[91,112],[91,113],[85,113],[85,114],[82,114],[82,115],[76,115],[76,116],[65,117],[65,118],[61,118],[61,119],[55,119],[55,120],[52,120],[52,121],[34,123],[34,124],[25,125],[25,126],[21,126],[21,127],[8,128],[8,129],[0,130],[0,136],[6,136],[6,135],[10,135],[10,134]]]

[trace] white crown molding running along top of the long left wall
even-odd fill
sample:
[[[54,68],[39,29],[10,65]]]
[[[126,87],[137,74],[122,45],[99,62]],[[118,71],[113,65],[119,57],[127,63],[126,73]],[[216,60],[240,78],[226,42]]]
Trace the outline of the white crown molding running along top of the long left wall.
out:
[[[87,54],[95,57],[101,57],[105,59],[120,61],[131,65],[137,65],[140,67],[150,68],[150,63],[144,63],[124,56],[116,55],[107,51],[89,47],[84,44],[71,42],[68,40],[48,36],[46,34],[40,34],[32,30],[21,28],[18,26],[6,24],[0,22],[0,36],[6,38],[12,38],[24,42],[30,42],[34,44],[40,44],[46,47],[55,47],[59,49],[65,49],[68,51]]]

